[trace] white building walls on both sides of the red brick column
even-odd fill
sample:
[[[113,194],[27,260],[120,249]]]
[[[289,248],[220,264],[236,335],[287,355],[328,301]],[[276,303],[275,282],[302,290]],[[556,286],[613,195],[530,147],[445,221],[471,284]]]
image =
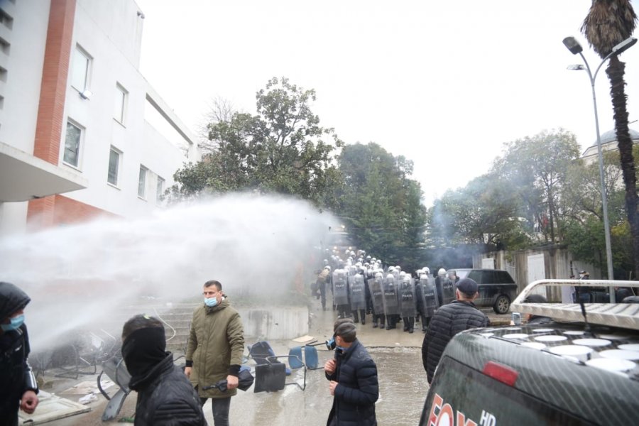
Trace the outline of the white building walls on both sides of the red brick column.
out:
[[[0,141],[33,154],[50,1],[0,0],[0,5],[13,16],[12,28],[0,24],[0,37],[11,43],[9,53],[0,49],[0,66],[8,70],[6,82],[0,81],[4,97]],[[87,189],[68,192],[65,197],[122,217],[137,217],[157,208],[157,176],[170,187],[173,173],[187,160],[185,151],[143,119],[150,106],[146,102],[148,82],[138,71],[143,28],[138,11],[133,0],[77,0],[70,67],[79,44],[93,58],[88,85],[92,96],[82,99],[71,87],[71,79],[67,80],[58,160],[60,167],[89,182]],[[129,92],[124,125],[113,118],[118,83]],[[77,168],[62,161],[67,118],[85,129]],[[117,187],[107,183],[111,146],[122,152]],[[190,154],[194,151],[197,148],[191,145]],[[149,169],[146,200],[138,197],[141,164]],[[0,204],[0,235],[26,229],[27,206],[26,202]]]

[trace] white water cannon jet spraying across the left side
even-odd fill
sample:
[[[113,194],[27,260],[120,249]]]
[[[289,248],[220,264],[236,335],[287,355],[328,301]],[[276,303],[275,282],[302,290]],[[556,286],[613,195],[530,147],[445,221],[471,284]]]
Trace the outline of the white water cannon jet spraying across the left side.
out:
[[[45,349],[141,297],[197,300],[207,280],[219,280],[231,301],[287,297],[321,264],[335,223],[299,200],[226,195],[151,217],[7,236],[0,280],[31,297],[31,346]]]

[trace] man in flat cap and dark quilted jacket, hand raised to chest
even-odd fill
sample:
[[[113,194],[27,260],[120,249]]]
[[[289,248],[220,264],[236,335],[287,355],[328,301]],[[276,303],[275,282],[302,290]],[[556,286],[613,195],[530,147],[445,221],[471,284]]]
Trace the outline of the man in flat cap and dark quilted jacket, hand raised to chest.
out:
[[[334,327],[335,358],[324,364],[333,398],[327,426],[376,426],[375,403],[379,398],[377,366],[356,339],[350,318],[337,320]]]

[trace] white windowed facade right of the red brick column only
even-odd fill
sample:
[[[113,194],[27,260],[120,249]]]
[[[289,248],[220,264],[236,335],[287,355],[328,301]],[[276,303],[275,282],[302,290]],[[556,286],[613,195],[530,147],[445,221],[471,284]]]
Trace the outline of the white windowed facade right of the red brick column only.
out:
[[[158,205],[156,176],[165,180],[165,187],[173,185],[173,173],[186,157],[180,148],[169,143],[143,119],[144,111],[149,107],[146,102],[148,82],[134,63],[138,60],[137,48],[129,46],[140,43],[138,33],[133,30],[141,24],[136,26],[131,16],[137,21],[142,18],[137,15],[133,1],[117,0],[115,3],[109,8],[99,0],[78,1],[72,49],[80,45],[93,58],[88,87],[92,96],[88,100],[82,99],[68,82],[65,116],[86,129],[77,173],[89,180],[89,187],[65,196],[123,217],[137,217],[148,214]],[[98,17],[94,16],[96,13]],[[104,28],[96,28],[101,25]],[[119,35],[112,34],[113,31],[130,34],[129,45],[121,43]],[[116,84],[128,91],[124,124],[113,118]],[[62,134],[60,165],[63,164],[64,141],[65,134]],[[111,146],[121,151],[117,187],[107,183]],[[145,199],[138,197],[140,165],[150,172]]]

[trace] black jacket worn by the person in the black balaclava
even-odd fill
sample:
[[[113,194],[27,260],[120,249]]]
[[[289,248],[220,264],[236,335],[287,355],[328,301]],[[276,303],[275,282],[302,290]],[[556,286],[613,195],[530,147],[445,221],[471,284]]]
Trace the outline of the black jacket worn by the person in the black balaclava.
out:
[[[136,426],[206,426],[200,397],[173,354],[160,361],[143,378],[131,378],[129,387],[138,391]]]

